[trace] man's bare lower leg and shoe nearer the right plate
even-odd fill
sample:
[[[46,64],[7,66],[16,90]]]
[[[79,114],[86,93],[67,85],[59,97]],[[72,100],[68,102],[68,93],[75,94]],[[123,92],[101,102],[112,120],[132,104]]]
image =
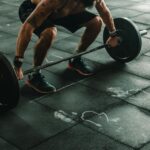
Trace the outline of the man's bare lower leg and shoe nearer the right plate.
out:
[[[95,16],[93,19],[85,23],[84,26],[86,29],[75,53],[85,51],[94,42],[101,31],[102,20],[99,16]],[[79,74],[84,76],[93,74],[93,70],[83,62],[81,57],[72,59],[69,62],[69,68],[76,70]]]

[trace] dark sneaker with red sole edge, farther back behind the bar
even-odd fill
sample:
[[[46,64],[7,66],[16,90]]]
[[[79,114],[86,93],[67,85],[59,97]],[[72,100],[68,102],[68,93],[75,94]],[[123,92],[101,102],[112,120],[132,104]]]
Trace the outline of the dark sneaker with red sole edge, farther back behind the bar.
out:
[[[69,60],[68,67],[83,76],[90,76],[94,74],[92,68],[88,66],[81,57]]]

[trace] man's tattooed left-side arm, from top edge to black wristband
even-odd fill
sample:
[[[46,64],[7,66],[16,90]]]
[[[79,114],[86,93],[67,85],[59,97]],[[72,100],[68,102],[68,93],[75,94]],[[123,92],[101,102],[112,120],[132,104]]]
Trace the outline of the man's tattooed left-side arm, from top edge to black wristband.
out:
[[[39,27],[48,15],[57,7],[57,0],[42,0],[21,26],[17,38],[16,56],[23,57],[33,31]]]

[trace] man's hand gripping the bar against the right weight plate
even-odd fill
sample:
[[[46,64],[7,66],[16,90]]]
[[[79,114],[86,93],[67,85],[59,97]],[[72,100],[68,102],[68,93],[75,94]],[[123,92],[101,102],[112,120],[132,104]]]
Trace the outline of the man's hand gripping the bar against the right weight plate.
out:
[[[109,47],[116,47],[120,44],[120,38],[118,36],[114,36],[114,37],[109,37],[108,40],[106,41],[106,44]]]

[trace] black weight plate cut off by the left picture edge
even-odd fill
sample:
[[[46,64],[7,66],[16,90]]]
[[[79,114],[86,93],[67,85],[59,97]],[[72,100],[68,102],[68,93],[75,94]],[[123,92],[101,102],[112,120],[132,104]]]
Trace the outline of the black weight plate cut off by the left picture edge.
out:
[[[13,67],[0,53],[0,111],[14,108],[20,96],[19,83]]]

